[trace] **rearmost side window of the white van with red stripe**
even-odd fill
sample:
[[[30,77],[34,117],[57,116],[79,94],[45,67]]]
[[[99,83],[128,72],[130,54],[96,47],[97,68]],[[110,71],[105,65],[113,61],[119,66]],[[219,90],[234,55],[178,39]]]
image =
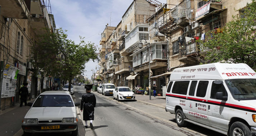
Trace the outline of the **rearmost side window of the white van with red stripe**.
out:
[[[188,92],[189,81],[176,81],[172,87],[172,93],[184,94]]]

